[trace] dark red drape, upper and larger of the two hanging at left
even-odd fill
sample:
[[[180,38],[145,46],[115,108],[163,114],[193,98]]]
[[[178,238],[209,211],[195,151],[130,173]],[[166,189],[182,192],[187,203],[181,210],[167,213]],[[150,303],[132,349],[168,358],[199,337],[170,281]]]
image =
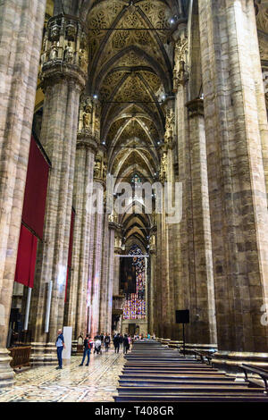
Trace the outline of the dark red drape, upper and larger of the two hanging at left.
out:
[[[46,189],[49,166],[32,137],[29,147],[29,163],[25,185],[22,221],[43,238],[46,210]]]

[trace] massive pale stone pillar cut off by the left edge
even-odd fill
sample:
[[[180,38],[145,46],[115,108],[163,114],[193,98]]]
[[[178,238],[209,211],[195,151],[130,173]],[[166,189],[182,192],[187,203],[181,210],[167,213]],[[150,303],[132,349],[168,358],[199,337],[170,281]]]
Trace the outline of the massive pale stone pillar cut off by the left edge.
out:
[[[13,383],[6,350],[45,0],[0,4],[0,387]]]

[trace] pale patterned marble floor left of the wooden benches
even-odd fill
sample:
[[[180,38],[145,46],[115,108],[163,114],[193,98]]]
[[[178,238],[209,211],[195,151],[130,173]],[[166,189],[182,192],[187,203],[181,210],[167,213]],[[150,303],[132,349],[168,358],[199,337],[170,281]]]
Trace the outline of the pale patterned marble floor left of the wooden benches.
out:
[[[63,370],[38,366],[15,375],[13,388],[0,388],[0,402],[113,402],[124,364],[122,351],[91,355],[89,366],[71,357]]]

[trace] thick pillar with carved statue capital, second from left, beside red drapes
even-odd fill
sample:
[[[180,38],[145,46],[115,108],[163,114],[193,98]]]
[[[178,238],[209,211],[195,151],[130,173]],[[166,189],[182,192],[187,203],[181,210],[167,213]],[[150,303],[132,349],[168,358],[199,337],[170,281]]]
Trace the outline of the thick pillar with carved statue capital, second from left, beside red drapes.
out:
[[[85,41],[75,17],[61,15],[48,21],[42,54],[46,97],[41,143],[52,170],[31,302],[33,360],[40,363],[54,359],[54,338],[63,327],[80,92],[86,81],[87,66],[80,62]]]

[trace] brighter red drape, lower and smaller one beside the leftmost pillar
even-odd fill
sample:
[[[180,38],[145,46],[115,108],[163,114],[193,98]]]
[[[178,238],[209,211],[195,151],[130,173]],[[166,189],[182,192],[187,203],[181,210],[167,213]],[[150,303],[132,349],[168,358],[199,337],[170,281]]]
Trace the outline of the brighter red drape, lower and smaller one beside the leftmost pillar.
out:
[[[21,224],[15,281],[29,288],[34,283],[37,247],[38,238]]]

